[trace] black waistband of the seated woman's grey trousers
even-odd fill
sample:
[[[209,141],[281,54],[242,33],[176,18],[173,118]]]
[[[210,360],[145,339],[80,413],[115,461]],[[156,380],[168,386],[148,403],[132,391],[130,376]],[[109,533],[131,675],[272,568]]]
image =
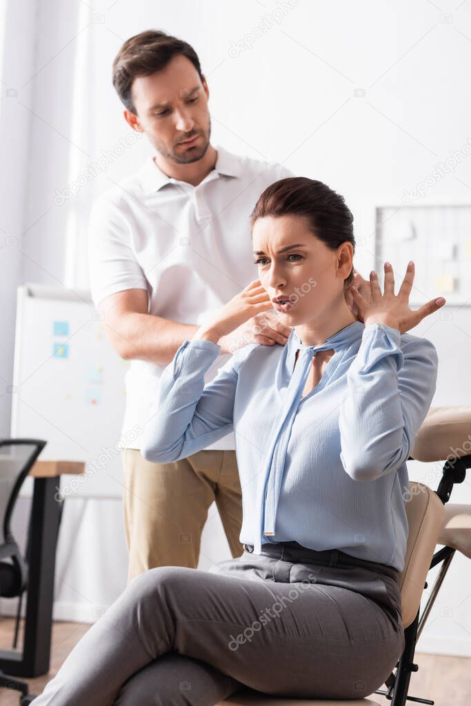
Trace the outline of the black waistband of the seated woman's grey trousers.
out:
[[[244,549],[252,553],[254,546],[244,544]],[[340,549],[326,549],[324,551],[308,549],[298,542],[270,542],[269,544],[262,544],[261,554],[292,561],[293,563],[318,563],[323,564],[323,566],[362,566],[371,571],[376,571],[376,573],[386,574],[396,582],[399,582],[400,577],[399,571],[393,566],[350,556],[350,554],[345,554],[345,551],[340,551]]]

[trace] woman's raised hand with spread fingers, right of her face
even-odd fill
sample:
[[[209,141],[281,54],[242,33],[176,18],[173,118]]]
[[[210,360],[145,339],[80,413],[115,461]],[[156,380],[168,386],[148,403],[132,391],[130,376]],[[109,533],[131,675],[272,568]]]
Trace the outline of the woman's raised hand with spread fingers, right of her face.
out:
[[[352,299],[357,304],[359,318],[362,319],[364,325],[368,323],[384,323],[392,328],[397,328],[400,333],[405,333],[405,331],[417,326],[425,316],[434,313],[446,303],[443,297],[439,297],[438,299],[431,299],[417,311],[412,311],[409,306],[409,295],[414,276],[415,265],[411,261],[407,265],[403,284],[400,286],[398,294],[395,294],[393,266],[386,262],[384,263],[383,293],[378,283],[378,275],[374,270],[371,271],[369,277],[371,301],[367,301],[356,287],[350,287]]]

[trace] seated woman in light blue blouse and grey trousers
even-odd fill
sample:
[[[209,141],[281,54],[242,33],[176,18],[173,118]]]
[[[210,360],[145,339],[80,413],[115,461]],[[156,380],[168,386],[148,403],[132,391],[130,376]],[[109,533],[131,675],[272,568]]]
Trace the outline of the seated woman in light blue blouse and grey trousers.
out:
[[[129,585],[35,704],[213,706],[242,685],[362,698],[404,646],[399,573],[405,461],[436,385],[436,350],[405,333],[443,306],[352,288],[352,214],[319,181],[282,179],[251,215],[259,279],[162,375],[142,453],[172,462],[234,429],[244,554],[215,570],[160,567]],[[246,345],[204,385],[217,341],[275,307],[287,344]],[[168,518],[172,522],[172,517]],[[181,527],[184,532],[184,527]]]

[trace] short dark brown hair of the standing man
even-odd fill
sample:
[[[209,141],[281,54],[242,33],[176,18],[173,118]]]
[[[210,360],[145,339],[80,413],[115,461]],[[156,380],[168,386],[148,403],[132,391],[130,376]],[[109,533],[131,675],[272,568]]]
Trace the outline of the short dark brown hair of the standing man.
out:
[[[165,68],[174,56],[186,56],[203,80],[200,60],[193,47],[160,30],[146,30],[126,40],[113,61],[113,85],[131,113],[136,115],[131,97],[133,80]]]

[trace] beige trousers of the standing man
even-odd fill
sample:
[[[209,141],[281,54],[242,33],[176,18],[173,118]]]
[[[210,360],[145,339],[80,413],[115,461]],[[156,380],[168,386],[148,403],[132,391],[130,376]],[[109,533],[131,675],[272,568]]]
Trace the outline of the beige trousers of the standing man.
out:
[[[201,532],[215,501],[232,557],[241,556],[242,492],[235,451],[198,451],[152,463],[124,449],[124,531],[128,580],[157,566],[196,568]]]

